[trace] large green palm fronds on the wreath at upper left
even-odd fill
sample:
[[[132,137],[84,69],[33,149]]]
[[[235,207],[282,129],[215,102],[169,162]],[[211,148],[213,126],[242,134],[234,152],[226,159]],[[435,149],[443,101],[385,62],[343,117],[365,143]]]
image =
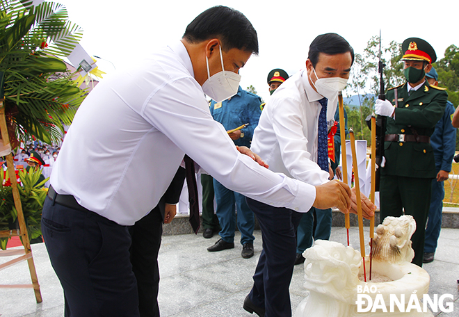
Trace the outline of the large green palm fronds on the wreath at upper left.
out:
[[[56,56],[70,54],[82,31],[60,3],[0,0],[0,8],[0,87],[10,138],[60,141],[86,91]]]

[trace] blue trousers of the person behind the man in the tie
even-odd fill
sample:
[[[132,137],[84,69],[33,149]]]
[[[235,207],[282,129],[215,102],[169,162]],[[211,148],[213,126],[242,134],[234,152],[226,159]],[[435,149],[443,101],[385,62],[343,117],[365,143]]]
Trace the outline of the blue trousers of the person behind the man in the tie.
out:
[[[311,207],[303,213],[298,225],[296,253],[303,254],[316,240],[329,240],[332,234],[332,209]]]

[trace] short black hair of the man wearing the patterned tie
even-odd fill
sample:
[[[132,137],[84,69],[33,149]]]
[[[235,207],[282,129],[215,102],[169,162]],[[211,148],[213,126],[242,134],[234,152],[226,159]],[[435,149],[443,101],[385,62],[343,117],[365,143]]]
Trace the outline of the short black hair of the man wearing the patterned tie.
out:
[[[347,52],[351,53],[352,65],[354,63],[354,49],[348,41],[337,33],[326,33],[319,35],[312,41],[311,45],[309,45],[309,56],[307,58],[311,60],[312,66],[315,68],[319,61],[319,53],[336,55]]]

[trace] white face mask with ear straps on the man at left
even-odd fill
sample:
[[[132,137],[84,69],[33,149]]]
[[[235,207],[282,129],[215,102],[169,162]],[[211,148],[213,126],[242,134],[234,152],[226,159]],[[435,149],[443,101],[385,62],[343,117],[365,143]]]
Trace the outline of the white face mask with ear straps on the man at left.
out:
[[[241,81],[241,75],[225,70],[221,45],[219,45],[219,49],[220,60],[222,61],[222,71],[210,76],[209,59],[206,56],[207,81],[202,85],[204,93],[216,102],[221,102],[236,95],[239,89],[239,82]]]

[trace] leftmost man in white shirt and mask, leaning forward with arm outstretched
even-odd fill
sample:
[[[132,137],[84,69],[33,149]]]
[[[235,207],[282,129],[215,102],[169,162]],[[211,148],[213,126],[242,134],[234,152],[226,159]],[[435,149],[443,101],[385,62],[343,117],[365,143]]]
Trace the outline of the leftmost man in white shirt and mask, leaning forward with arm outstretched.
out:
[[[218,101],[236,94],[239,69],[257,53],[248,19],[217,6],[198,15],[181,41],[101,81],[83,101],[42,213],[65,316],[139,316],[127,226],[158,204],[185,153],[247,197],[296,210],[351,209],[347,186],[312,186],[266,169],[212,118],[204,93]]]

